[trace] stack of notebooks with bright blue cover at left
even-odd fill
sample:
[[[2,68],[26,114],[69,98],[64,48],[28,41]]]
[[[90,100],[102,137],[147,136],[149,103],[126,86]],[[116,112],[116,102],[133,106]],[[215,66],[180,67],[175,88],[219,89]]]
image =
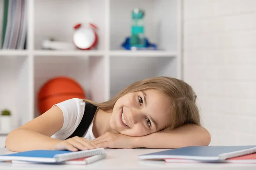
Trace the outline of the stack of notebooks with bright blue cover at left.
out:
[[[20,153],[0,155],[0,161],[12,163],[44,164],[89,164],[106,157],[104,148],[71,152],[68,150],[31,150]]]

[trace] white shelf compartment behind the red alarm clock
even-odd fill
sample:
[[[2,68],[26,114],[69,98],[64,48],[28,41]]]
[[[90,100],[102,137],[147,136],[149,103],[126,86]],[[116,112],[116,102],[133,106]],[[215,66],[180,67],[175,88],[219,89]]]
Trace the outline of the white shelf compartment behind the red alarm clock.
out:
[[[97,49],[105,49],[105,0],[35,0],[35,49],[43,40],[72,43],[73,27],[93,22],[98,29]]]

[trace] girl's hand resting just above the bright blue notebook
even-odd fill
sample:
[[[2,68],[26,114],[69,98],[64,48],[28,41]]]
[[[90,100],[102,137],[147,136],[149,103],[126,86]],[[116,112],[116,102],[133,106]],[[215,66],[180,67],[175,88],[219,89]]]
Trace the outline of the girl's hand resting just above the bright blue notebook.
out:
[[[89,150],[96,148],[99,147],[94,142],[75,136],[73,138],[59,142],[55,145],[54,150],[70,150],[75,152],[78,150]]]

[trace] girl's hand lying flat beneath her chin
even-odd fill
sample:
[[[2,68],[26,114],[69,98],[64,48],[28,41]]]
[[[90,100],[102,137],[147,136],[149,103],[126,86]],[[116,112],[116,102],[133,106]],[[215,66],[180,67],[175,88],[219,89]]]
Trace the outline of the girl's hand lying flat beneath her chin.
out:
[[[104,135],[94,139],[93,142],[99,147],[132,149],[134,148],[134,138],[119,133],[106,132]]]

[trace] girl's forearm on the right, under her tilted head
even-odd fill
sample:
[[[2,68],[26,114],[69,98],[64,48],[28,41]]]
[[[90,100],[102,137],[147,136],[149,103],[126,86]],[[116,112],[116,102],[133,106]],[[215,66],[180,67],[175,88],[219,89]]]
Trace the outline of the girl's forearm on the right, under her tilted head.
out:
[[[185,125],[167,132],[157,132],[134,138],[135,147],[180,148],[209,145],[209,132],[198,125]]]

